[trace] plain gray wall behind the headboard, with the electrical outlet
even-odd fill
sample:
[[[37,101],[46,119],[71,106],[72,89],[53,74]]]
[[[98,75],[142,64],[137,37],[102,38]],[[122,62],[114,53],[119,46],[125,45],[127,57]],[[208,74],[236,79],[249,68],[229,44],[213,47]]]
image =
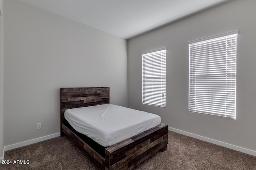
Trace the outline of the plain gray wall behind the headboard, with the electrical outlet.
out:
[[[4,146],[60,131],[61,87],[110,86],[127,106],[125,39],[17,0],[4,1],[4,30]]]

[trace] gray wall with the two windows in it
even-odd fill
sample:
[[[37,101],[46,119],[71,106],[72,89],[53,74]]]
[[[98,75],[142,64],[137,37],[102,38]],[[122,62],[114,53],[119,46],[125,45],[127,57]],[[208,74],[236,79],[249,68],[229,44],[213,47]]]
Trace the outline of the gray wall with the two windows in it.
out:
[[[128,41],[128,106],[169,127],[256,151],[256,1],[232,0]],[[238,30],[236,120],[188,111],[188,41]],[[142,105],[140,53],[167,47],[166,108]]]

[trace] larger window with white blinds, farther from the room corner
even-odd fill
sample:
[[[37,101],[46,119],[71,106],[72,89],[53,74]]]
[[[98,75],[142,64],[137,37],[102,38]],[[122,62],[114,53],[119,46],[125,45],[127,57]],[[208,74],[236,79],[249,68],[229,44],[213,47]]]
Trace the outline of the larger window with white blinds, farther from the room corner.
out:
[[[236,119],[237,33],[189,42],[189,111]]]

